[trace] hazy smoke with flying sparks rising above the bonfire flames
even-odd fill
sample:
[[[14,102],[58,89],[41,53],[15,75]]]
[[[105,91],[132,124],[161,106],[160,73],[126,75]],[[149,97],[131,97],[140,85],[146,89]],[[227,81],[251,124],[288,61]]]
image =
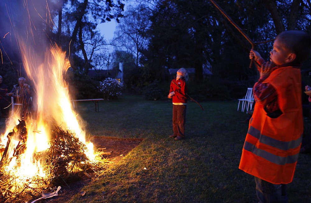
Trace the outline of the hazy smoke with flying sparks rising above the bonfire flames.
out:
[[[44,53],[53,40],[55,11],[62,5],[57,0],[1,0],[0,49],[3,62],[19,61],[20,43]]]

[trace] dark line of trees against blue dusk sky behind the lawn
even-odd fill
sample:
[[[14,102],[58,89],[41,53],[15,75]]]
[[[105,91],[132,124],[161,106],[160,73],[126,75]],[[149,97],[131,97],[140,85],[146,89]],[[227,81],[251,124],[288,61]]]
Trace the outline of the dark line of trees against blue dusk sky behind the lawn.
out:
[[[124,11],[129,2],[131,6]],[[274,39],[284,30],[311,33],[309,0],[215,2],[253,42]],[[0,34],[4,36],[7,30],[16,26],[12,24],[12,16],[17,14],[10,12],[10,8],[16,8],[12,1],[4,0],[1,4],[2,14],[9,16],[0,24],[4,28]],[[124,64],[127,90],[148,93],[146,99],[161,99],[167,95],[172,78],[168,71],[170,68],[195,69],[190,76],[189,92],[198,100],[238,98],[258,79],[256,68],[249,68],[251,44],[210,0],[48,0],[49,15],[45,15],[47,6],[42,1],[40,4],[43,4],[40,16],[49,16],[53,23],[45,19],[39,21],[37,27],[44,28],[44,36],[48,36],[49,42],[59,44],[68,53],[70,48],[70,62],[75,72],[72,80],[77,92],[97,94],[98,81],[104,78],[90,79],[88,71],[94,67],[104,70],[118,68],[120,61]],[[114,39],[107,41],[96,26],[111,19],[116,19],[119,24]],[[12,70],[7,63],[20,62],[14,43],[6,39],[0,40],[3,56],[0,74],[4,78],[8,74],[7,67]],[[268,60],[272,44],[273,41],[254,48]],[[114,46],[113,51],[109,51],[109,45]],[[3,54],[5,51],[9,57]],[[19,64],[16,70],[21,67]],[[308,61],[303,64],[302,72],[308,72],[309,68]],[[212,75],[206,76],[206,69]],[[91,93],[81,95],[92,97]]]

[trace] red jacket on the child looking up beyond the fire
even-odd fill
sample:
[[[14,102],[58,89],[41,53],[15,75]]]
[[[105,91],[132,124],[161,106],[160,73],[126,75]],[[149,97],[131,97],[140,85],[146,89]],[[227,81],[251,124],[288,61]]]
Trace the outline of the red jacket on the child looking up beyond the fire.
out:
[[[176,83],[177,85],[175,85],[174,83]],[[186,85],[186,81],[183,78],[180,78],[179,80],[173,79],[171,81],[171,84],[169,86],[169,93],[174,91],[174,95],[173,95],[173,103],[187,103],[187,85]]]

